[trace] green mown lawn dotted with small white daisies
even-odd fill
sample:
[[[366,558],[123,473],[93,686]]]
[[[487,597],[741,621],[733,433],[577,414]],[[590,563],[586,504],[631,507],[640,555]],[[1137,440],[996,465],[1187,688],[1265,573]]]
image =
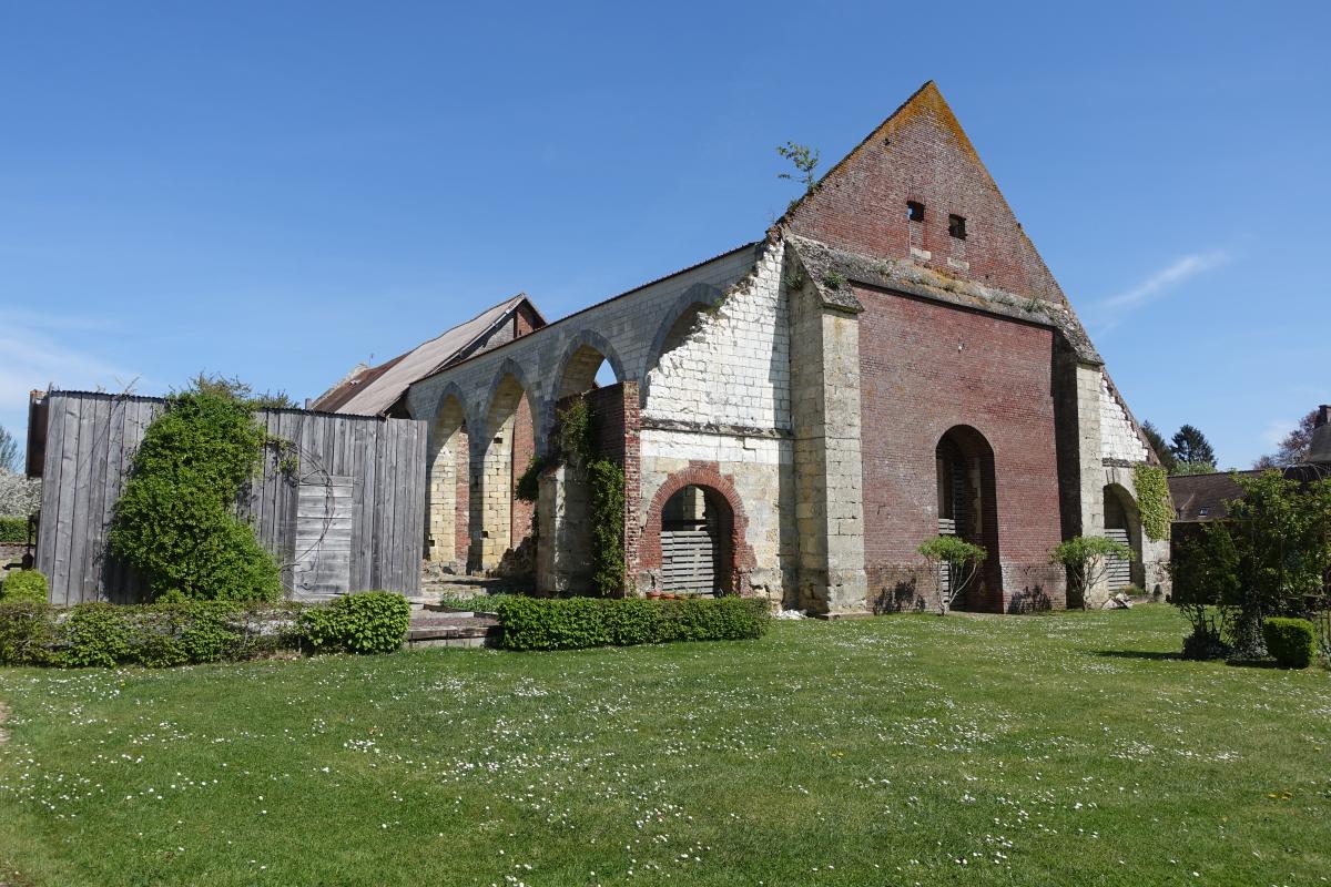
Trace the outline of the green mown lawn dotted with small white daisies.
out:
[[[0,883],[1311,884],[1331,680],[1167,606],[0,669]]]

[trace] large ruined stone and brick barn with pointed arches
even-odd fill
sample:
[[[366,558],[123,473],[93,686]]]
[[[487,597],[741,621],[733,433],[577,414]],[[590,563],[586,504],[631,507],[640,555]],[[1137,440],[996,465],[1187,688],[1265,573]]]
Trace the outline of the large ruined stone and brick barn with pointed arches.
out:
[[[548,468],[535,513],[515,497],[584,396],[624,469],[627,593],[924,608],[936,533],[989,552],[964,609],[1063,606],[1049,551],[1075,535],[1131,544],[1113,584],[1166,581],[1134,499],[1155,455],[932,82],[761,239],[556,322],[518,297],[433,344],[314,406],[429,424],[423,551],[458,570],[586,586],[576,472]]]

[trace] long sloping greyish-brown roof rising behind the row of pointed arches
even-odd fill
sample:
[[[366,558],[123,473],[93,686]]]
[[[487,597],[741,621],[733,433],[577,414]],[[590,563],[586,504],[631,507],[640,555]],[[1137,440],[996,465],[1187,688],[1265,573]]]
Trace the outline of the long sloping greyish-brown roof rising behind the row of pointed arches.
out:
[[[486,336],[512,318],[522,305],[531,309],[538,326],[544,326],[546,320],[536,306],[526,295],[518,294],[406,354],[399,354],[375,367],[363,364],[357,367],[342,382],[319,395],[310,408],[363,416],[383,415],[402,399],[413,382],[470,356],[474,346],[483,343]]]

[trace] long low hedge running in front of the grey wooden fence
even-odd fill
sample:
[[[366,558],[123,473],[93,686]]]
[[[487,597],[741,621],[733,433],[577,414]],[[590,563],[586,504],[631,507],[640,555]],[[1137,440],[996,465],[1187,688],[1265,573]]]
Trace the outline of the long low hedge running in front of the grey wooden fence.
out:
[[[314,649],[389,652],[401,646],[409,613],[406,598],[387,592],[326,606],[185,601],[57,609],[0,601],[0,665],[165,668]]]

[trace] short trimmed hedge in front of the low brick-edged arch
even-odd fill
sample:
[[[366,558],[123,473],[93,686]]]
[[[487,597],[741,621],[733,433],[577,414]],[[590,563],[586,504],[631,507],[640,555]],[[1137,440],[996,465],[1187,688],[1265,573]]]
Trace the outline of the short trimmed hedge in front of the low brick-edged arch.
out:
[[[503,646],[510,650],[749,640],[761,637],[771,618],[767,601],[740,597],[679,601],[511,597],[500,601],[498,609]]]

